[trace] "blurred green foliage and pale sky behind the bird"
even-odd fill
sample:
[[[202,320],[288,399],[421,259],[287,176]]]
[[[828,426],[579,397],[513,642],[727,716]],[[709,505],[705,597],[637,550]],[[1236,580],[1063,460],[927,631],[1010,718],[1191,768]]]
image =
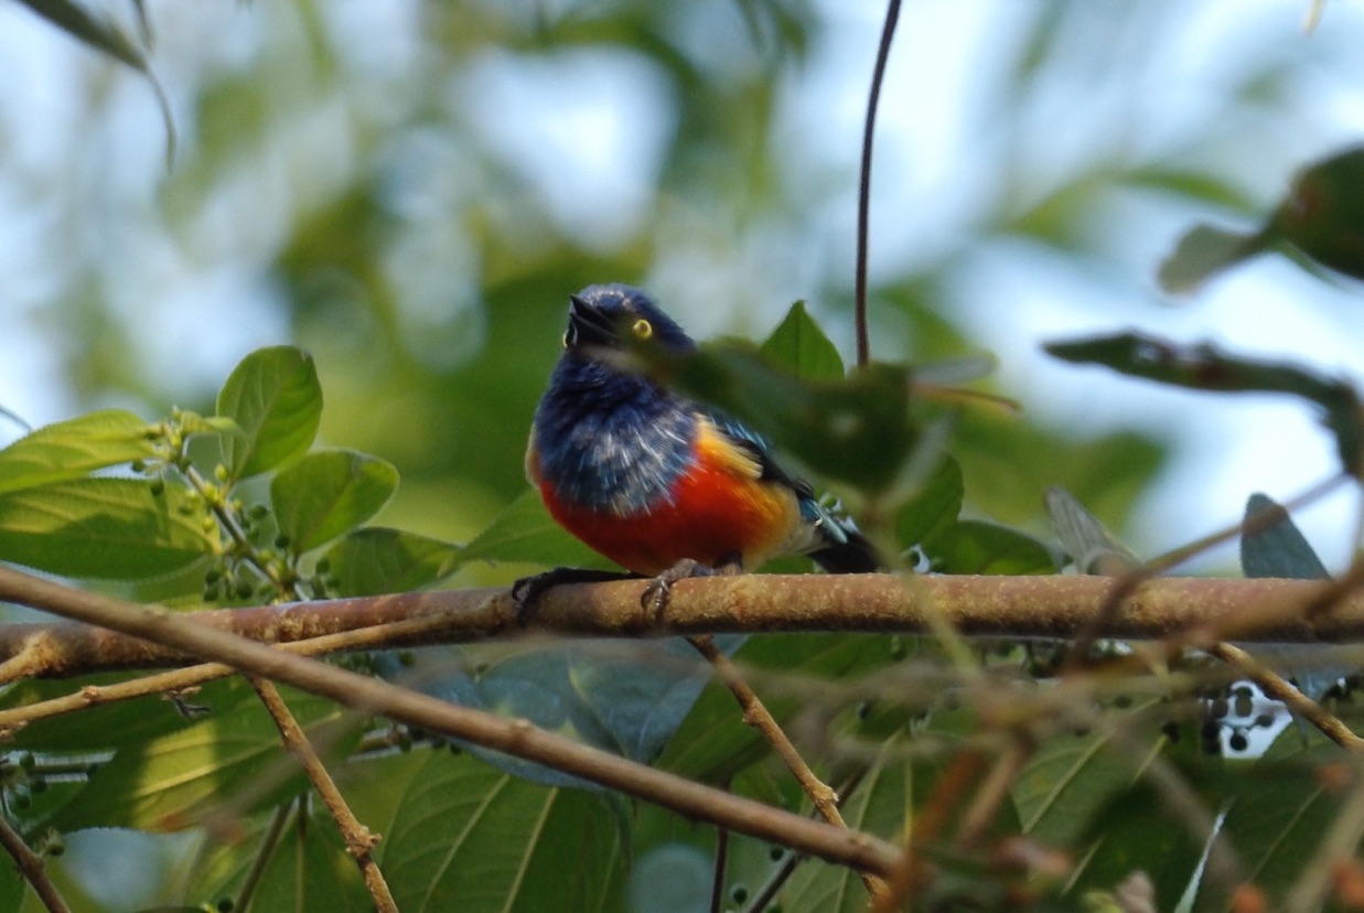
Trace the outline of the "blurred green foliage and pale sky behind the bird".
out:
[[[1159,302],[1154,266],[1192,213],[1254,218],[1348,135],[1364,18],[1333,7],[1305,34],[1294,4],[907,5],[873,179],[873,353],[1000,358],[993,389],[1026,409],[964,418],[970,513],[1042,531],[1041,491],[1063,484],[1168,547],[1203,528],[1191,505],[1209,509],[1189,452],[1203,479],[1244,475],[1198,450],[1226,441],[1209,418],[1225,407],[1135,400],[1039,344],[1114,322],[1264,329],[1273,295],[1241,295],[1228,322],[1214,293],[1189,317]],[[179,134],[166,171],[136,72],[0,7],[15,87],[0,94],[3,405],[34,424],[109,404],[202,409],[243,353],[295,341],[316,356],[323,441],[402,474],[379,521],[465,540],[525,487],[570,291],[644,285],[700,337],[761,338],[805,299],[850,352],[880,12],[149,4],[147,60]],[[132,7],[101,15],[138,34]],[[1262,288],[1297,282],[1279,292],[1294,306],[1346,293],[1256,269]],[[1353,319],[1326,313],[1307,332]],[[1329,445],[1308,420],[1285,407],[1243,426],[1304,438],[1293,469],[1311,480]],[[1176,439],[1188,450],[1168,464]],[[1239,482],[1209,523],[1252,487],[1292,494],[1292,475]]]

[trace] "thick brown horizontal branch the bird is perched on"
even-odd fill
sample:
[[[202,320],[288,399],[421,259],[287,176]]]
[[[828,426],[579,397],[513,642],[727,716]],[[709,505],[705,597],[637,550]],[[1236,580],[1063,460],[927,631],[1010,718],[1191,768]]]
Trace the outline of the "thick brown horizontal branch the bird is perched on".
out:
[[[1073,637],[1118,585],[1110,577],[911,577],[743,575],[683,580],[666,628],[640,605],[644,581],[557,587],[537,603],[535,629],[640,637],[777,631],[923,632],[932,613],[967,636]],[[1334,599],[1322,610],[1323,599]],[[1309,610],[1309,611],[1308,611]],[[468,643],[521,636],[507,590],[409,592],[366,599],[187,613],[205,625],[263,643],[405,622],[370,632],[364,648]],[[421,624],[415,624],[421,620]],[[1106,637],[1333,643],[1364,640],[1364,594],[1309,580],[1158,577],[1123,602]],[[357,643],[360,643],[357,640]],[[344,644],[338,644],[341,647]],[[0,625],[0,662],[35,651],[25,666],[49,676],[184,665],[165,646],[78,624]]]

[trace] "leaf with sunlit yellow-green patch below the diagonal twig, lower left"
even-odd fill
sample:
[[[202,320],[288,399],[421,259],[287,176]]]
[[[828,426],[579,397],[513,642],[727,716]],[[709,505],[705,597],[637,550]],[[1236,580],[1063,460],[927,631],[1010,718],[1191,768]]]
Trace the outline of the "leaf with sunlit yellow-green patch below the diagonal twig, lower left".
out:
[[[329,757],[344,757],[359,744],[355,718],[331,701],[292,691],[286,697],[308,740],[326,747]],[[293,796],[306,782],[281,748],[274,722],[259,704],[246,701],[125,747],[95,770],[80,801],[65,805],[52,826],[181,831],[221,811],[224,797],[244,813]]]

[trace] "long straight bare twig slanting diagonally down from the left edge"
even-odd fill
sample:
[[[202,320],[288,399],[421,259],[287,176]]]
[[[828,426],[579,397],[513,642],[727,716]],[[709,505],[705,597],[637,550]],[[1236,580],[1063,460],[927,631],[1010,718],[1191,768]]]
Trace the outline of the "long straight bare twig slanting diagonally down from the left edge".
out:
[[[636,598],[638,599],[638,594]],[[72,590],[3,565],[0,565],[0,599],[113,628],[186,654],[224,662],[244,673],[293,685],[364,714],[390,716],[547,764],[686,817],[728,827],[858,871],[884,873],[895,864],[895,847],[868,834],[810,822],[762,802],[731,796],[685,777],[547,733],[525,721],[502,719],[326,663],[293,656],[282,650],[196,624],[166,609]]]

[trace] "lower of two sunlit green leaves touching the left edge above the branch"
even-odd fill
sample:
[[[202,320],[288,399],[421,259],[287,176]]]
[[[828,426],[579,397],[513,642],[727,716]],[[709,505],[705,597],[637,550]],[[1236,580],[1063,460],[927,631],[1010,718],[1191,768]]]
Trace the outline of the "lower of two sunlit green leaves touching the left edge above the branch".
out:
[[[138,580],[213,554],[203,505],[145,479],[71,479],[0,494],[0,560],[68,577]]]

